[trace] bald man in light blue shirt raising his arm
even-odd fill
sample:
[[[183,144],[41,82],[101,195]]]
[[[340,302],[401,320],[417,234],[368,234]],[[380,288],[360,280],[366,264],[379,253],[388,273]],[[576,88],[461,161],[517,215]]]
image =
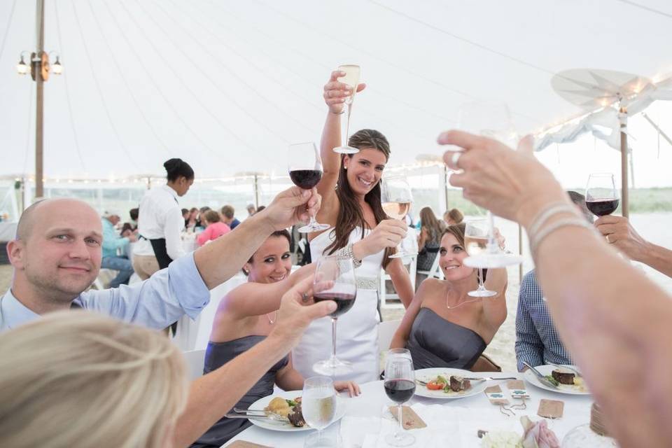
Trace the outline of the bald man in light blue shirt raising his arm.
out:
[[[290,188],[272,204],[194,253],[175,260],[133,286],[86,290],[101,265],[102,225],[96,211],[71,199],[41,200],[22,214],[7,244],[14,267],[10,290],[0,297],[0,331],[39,315],[71,307],[92,309],[151,328],[187,314],[195,318],[209,290],[230,279],[275,230],[307,221],[319,208],[313,191]]]

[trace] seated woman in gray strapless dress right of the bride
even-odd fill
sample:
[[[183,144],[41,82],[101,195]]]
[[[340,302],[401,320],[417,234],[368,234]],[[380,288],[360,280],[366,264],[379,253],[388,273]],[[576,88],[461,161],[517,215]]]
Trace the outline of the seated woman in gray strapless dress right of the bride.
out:
[[[451,225],[439,248],[445,280],[423,281],[395,333],[391,348],[406,347],[416,369],[470,369],[506,318],[506,269],[490,269],[485,286],[493,297],[470,297],[477,269],[466,267],[464,224]]]

